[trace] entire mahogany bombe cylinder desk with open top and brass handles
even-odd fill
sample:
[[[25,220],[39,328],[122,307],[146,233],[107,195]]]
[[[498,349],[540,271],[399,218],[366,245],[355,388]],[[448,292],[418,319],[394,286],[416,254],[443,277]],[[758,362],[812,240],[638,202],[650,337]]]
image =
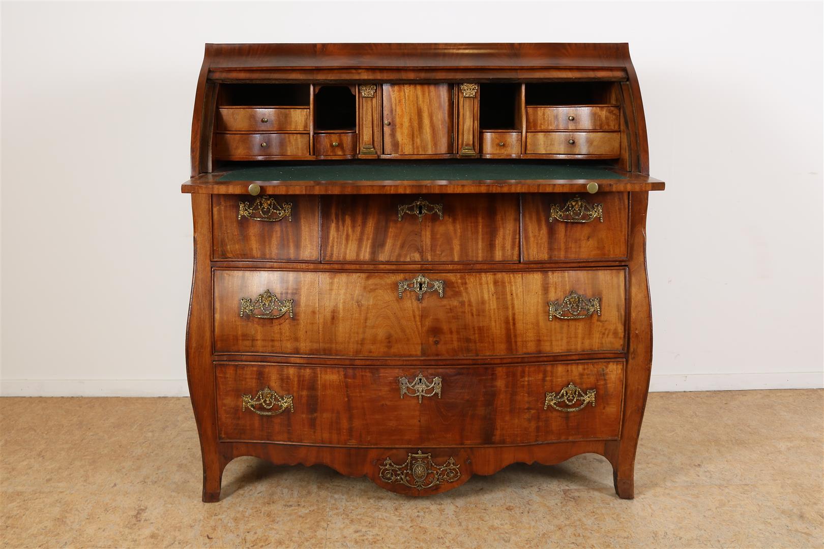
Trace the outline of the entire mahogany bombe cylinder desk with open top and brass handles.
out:
[[[663,188],[627,44],[206,44],[203,500],[239,456],[419,496],[585,453],[634,497]]]

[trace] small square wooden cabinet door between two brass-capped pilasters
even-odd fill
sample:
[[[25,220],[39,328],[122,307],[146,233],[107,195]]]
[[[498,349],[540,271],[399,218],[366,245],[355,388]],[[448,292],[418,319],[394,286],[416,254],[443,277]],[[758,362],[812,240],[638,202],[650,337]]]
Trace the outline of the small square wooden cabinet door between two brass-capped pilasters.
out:
[[[452,152],[452,84],[383,85],[383,154]]]

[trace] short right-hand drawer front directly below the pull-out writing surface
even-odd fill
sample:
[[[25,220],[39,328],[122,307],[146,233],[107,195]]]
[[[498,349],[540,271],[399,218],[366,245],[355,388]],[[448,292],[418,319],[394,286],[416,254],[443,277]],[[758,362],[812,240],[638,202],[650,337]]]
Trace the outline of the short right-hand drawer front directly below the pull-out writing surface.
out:
[[[603,221],[597,217],[586,223],[555,219],[551,215],[552,206],[564,208],[572,198],[581,198],[592,206],[601,204]],[[627,257],[628,193],[522,194],[521,205],[523,261]]]

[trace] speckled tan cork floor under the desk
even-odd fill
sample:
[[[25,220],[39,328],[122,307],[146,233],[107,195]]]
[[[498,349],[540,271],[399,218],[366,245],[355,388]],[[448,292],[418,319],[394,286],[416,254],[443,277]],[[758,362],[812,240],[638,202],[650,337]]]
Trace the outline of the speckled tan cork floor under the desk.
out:
[[[824,392],[653,393],[634,500],[604,458],[406,498],[239,458],[200,501],[188,398],[0,398],[0,547],[824,547]]]

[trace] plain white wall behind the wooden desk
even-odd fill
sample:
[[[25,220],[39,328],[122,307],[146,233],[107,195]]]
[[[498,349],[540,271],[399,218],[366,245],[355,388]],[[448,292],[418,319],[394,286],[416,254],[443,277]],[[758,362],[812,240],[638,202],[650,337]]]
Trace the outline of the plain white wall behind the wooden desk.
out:
[[[204,43],[336,41],[629,42],[653,390],[822,386],[821,2],[3,2],[2,394],[186,394]]]

